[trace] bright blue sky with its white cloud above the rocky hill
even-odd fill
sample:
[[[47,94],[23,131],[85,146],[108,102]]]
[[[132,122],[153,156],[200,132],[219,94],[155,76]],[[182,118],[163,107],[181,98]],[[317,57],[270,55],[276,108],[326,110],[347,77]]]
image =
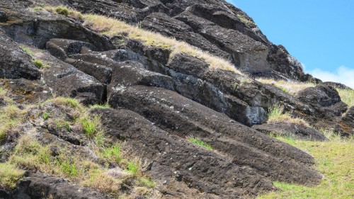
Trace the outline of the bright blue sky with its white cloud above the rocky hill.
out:
[[[354,88],[354,0],[227,0],[308,72]]]

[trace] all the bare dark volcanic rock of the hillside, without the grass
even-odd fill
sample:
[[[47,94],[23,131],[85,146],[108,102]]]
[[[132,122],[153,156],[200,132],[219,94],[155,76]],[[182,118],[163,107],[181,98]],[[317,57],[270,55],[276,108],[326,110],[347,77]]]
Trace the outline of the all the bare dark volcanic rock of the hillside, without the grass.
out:
[[[304,74],[285,47],[268,41],[246,13],[226,1],[45,2],[137,23],[228,59],[245,73],[211,68],[193,55],[171,55],[168,48],[127,35],[109,38],[90,30],[83,19],[36,11],[38,1],[0,2],[0,86],[8,97],[20,105],[43,103],[53,96],[76,98],[84,105],[108,103],[111,108],[95,108],[91,115],[101,117],[106,135],[124,141],[131,154],[147,163],[144,172],[156,181],[163,198],[245,198],[274,191],[272,181],[319,183],[322,176],[314,170],[310,154],[251,128],[265,123],[273,104],[282,104],[315,127],[353,134],[353,107],[347,111],[332,86],[292,96],[253,79],[318,81]],[[45,67],[38,69],[33,59],[42,60]],[[0,98],[0,107],[6,105]],[[90,142],[76,131],[60,135],[40,127],[70,149]],[[319,132],[309,133],[326,140]],[[45,136],[38,139],[46,140]],[[190,137],[199,137],[213,150],[188,142]],[[9,150],[17,140],[7,139]],[[0,160],[6,158],[1,155]],[[4,198],[50,195],[109,198],[33,172],[26,173],[15,190],[0,190]]]

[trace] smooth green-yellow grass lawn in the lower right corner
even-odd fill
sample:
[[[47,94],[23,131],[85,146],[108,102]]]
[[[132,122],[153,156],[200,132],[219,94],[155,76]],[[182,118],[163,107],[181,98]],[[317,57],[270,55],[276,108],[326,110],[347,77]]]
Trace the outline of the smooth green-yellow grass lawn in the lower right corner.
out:
[[[329,142],[312,142],[277,137],[316,159],[316,169],[324,175],[318,186],[274,182],[279,191],[261,195],[258,199],[270,198],[354,198],[354,140],[326,131]]]

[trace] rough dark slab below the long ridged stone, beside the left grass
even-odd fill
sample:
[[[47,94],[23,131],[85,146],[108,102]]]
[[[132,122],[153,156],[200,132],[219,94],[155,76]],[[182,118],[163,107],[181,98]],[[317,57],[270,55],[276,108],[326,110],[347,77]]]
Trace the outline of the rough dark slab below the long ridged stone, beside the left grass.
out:
[[[149,174],[163,184],[162,191],[177,198],[200,198],[200,193],[204,193],[203,198],[240,198],[256,194],[256,187],[262,191],[273,189],[267,178],[251,169],[169,135],[130,110],[96,109],[93,113],[102,115],[106,133],[125,140],[137,156],[151,162]],[[173,176],[176,171],[180,180]]]

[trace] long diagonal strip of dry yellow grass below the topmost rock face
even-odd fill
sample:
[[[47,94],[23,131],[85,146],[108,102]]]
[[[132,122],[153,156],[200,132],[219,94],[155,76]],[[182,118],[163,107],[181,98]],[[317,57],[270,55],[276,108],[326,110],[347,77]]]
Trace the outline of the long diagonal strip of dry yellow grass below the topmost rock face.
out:
[[[84,25],[88,25],[98,33],[104,33],[110,37],[115,35],[125,35],[128,38],[140,40],[144,42],[145,45],[168,48],[172,51],[171,57],[178,53],[185,53],[204,60],[210,64],[211,68],[224,69],[241,74],[241,72],[239,72],[234,65],[227,60],[215,57],[207,52],[203,52],[197,47],[189,45],[186,42],[181,42],[174,38],[167,38],[159,33],[152,33],[147,30],[142,30],[136,26],[118,21],[115,18],[88,14],[84,15],[84,19]]]

